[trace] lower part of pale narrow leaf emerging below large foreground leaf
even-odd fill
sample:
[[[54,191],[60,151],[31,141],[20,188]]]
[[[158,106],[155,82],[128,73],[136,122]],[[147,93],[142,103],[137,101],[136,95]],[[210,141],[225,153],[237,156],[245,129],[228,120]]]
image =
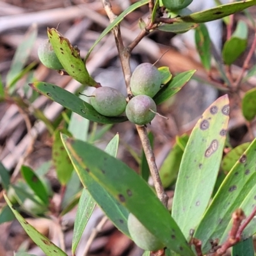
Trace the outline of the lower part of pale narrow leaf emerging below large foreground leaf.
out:
[[[79,199],[79,204],[76,212],[76,220],[74,223],[74,234],[72,239],[72,254],[75,255],[77,245],[81,239],[84,228],[92,215],[95,207],[95,201],[86,188],[83,189]]]

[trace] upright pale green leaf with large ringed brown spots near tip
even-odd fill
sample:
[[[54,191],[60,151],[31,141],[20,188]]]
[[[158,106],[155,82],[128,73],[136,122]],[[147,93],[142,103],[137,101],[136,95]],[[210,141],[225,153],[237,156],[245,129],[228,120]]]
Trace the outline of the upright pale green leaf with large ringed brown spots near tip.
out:
[[[220,168],[228,125],[228,95],[209,106],[196,123],[180,163],[172,216],[189,238],[209,204]]]

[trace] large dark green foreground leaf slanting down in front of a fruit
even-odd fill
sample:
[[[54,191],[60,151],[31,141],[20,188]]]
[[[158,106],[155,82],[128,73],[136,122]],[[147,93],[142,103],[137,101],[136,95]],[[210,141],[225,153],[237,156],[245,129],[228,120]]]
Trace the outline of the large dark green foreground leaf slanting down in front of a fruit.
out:
[[[93,145],[66,136],[63,142],[85,186],[89,177],[95,180],[167,247],[180,255],[194,255],[168,210],[140,175]]]

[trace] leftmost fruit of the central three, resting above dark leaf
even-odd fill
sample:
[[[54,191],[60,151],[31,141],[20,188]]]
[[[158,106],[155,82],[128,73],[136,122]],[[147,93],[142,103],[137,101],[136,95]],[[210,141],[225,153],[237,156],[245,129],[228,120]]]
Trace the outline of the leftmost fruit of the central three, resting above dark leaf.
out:
[[[97,88],[91,97],[93,108],[104,116],[119,116],[125,111],[126,99],[118,90],[103,86]]]

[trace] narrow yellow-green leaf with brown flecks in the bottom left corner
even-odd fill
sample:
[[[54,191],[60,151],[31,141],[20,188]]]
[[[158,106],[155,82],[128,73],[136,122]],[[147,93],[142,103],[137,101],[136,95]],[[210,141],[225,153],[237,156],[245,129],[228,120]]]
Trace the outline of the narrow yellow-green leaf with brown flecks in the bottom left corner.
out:
[[[42,251],[47,256],[67,256],[65,252],[63,252],[58,246],[52,243],[47,237],[40,234],[33,226],[31,226],[28,221],[24,220],[24,218],[15,210],[11,202],[8,200],[7,196],[4,194],[4,199],[12,210],[13,214],[19,221],[22,228],[26,231],[28,236],[35,242],[37,246],[39,246]]]

